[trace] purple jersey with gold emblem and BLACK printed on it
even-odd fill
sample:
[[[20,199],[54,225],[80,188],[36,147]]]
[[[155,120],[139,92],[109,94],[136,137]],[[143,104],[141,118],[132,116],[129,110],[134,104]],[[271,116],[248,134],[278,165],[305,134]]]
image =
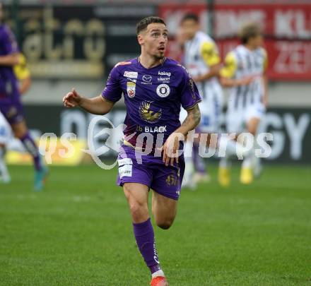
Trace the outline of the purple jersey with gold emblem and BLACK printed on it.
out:
[[[137,136],[151,133],[153,148],[158,134],[163,134],[165,142],[180,127],[180,106],[190,109],[201,101],[186,69],[168,58],[153,68],[144,68],[137,58],[117,64],[102,97],[117,102],[122,93],[127,107],[124,139],[134,146],[143,145]]]

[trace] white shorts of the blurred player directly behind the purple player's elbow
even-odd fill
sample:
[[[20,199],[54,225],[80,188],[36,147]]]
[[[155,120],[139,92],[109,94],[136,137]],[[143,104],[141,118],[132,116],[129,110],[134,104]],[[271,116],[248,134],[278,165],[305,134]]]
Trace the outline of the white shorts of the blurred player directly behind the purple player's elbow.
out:
[[[223,110],[223,95],[217,94],[212,100],[202,100],[199,102],[201,121],[197,127],[202,133],[218,133],[221,126],[221,115]],[[180,121],[187,117],[187,111],[182,109]]]

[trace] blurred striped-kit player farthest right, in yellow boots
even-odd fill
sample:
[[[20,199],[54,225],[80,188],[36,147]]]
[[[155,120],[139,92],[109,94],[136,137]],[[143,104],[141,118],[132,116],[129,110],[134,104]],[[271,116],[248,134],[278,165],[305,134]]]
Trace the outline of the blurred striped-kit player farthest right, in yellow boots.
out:
[[[225,66],[221,69],[221,83],[231,88],[228,101],[226,126],[229,133],[250,132],[257,135],[259,123],[264,116],[267,103],[267,85],[264,75],[267,66],[266,50],[262,47],[263,37],[259,25],[250,23],[240,32],[241,44],[225,56]],[[256,137],[254,138],[256,142]],[[242,162],[240,181],[250,184],[254,174],[259,175],[259,158],[253,149]],[[230,184],[230,155],[241,148],[237,141],[228,142],[225,157],[221,159],[218,173],[219,183]]]

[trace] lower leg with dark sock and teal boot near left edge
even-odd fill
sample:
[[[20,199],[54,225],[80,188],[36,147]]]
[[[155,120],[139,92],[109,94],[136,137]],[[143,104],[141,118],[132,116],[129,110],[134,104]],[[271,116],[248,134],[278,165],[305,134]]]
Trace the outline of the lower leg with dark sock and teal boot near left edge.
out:
[[[47,168],[42,165],[41,157],[37,145],[27,129],[25,120],[19,121],[16,124],[11,124],[14,136],[18,138],[25,149],[33,157],[33,162],[35,165],[35,190],[40,191],[45,183],[45,177],[47,176]]]

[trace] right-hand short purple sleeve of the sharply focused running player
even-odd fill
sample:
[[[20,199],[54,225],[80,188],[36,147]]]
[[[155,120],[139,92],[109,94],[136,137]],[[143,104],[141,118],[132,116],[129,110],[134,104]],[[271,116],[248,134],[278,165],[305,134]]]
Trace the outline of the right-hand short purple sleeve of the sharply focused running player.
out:
[[[198,88],[196,88],[196,84],[192,78],[190,78],[189,73],[187,73],[185,69],[182,73],[182,81],[180,83],[180,102],[184,109],[191,109],[201,101],[201,97]]]

